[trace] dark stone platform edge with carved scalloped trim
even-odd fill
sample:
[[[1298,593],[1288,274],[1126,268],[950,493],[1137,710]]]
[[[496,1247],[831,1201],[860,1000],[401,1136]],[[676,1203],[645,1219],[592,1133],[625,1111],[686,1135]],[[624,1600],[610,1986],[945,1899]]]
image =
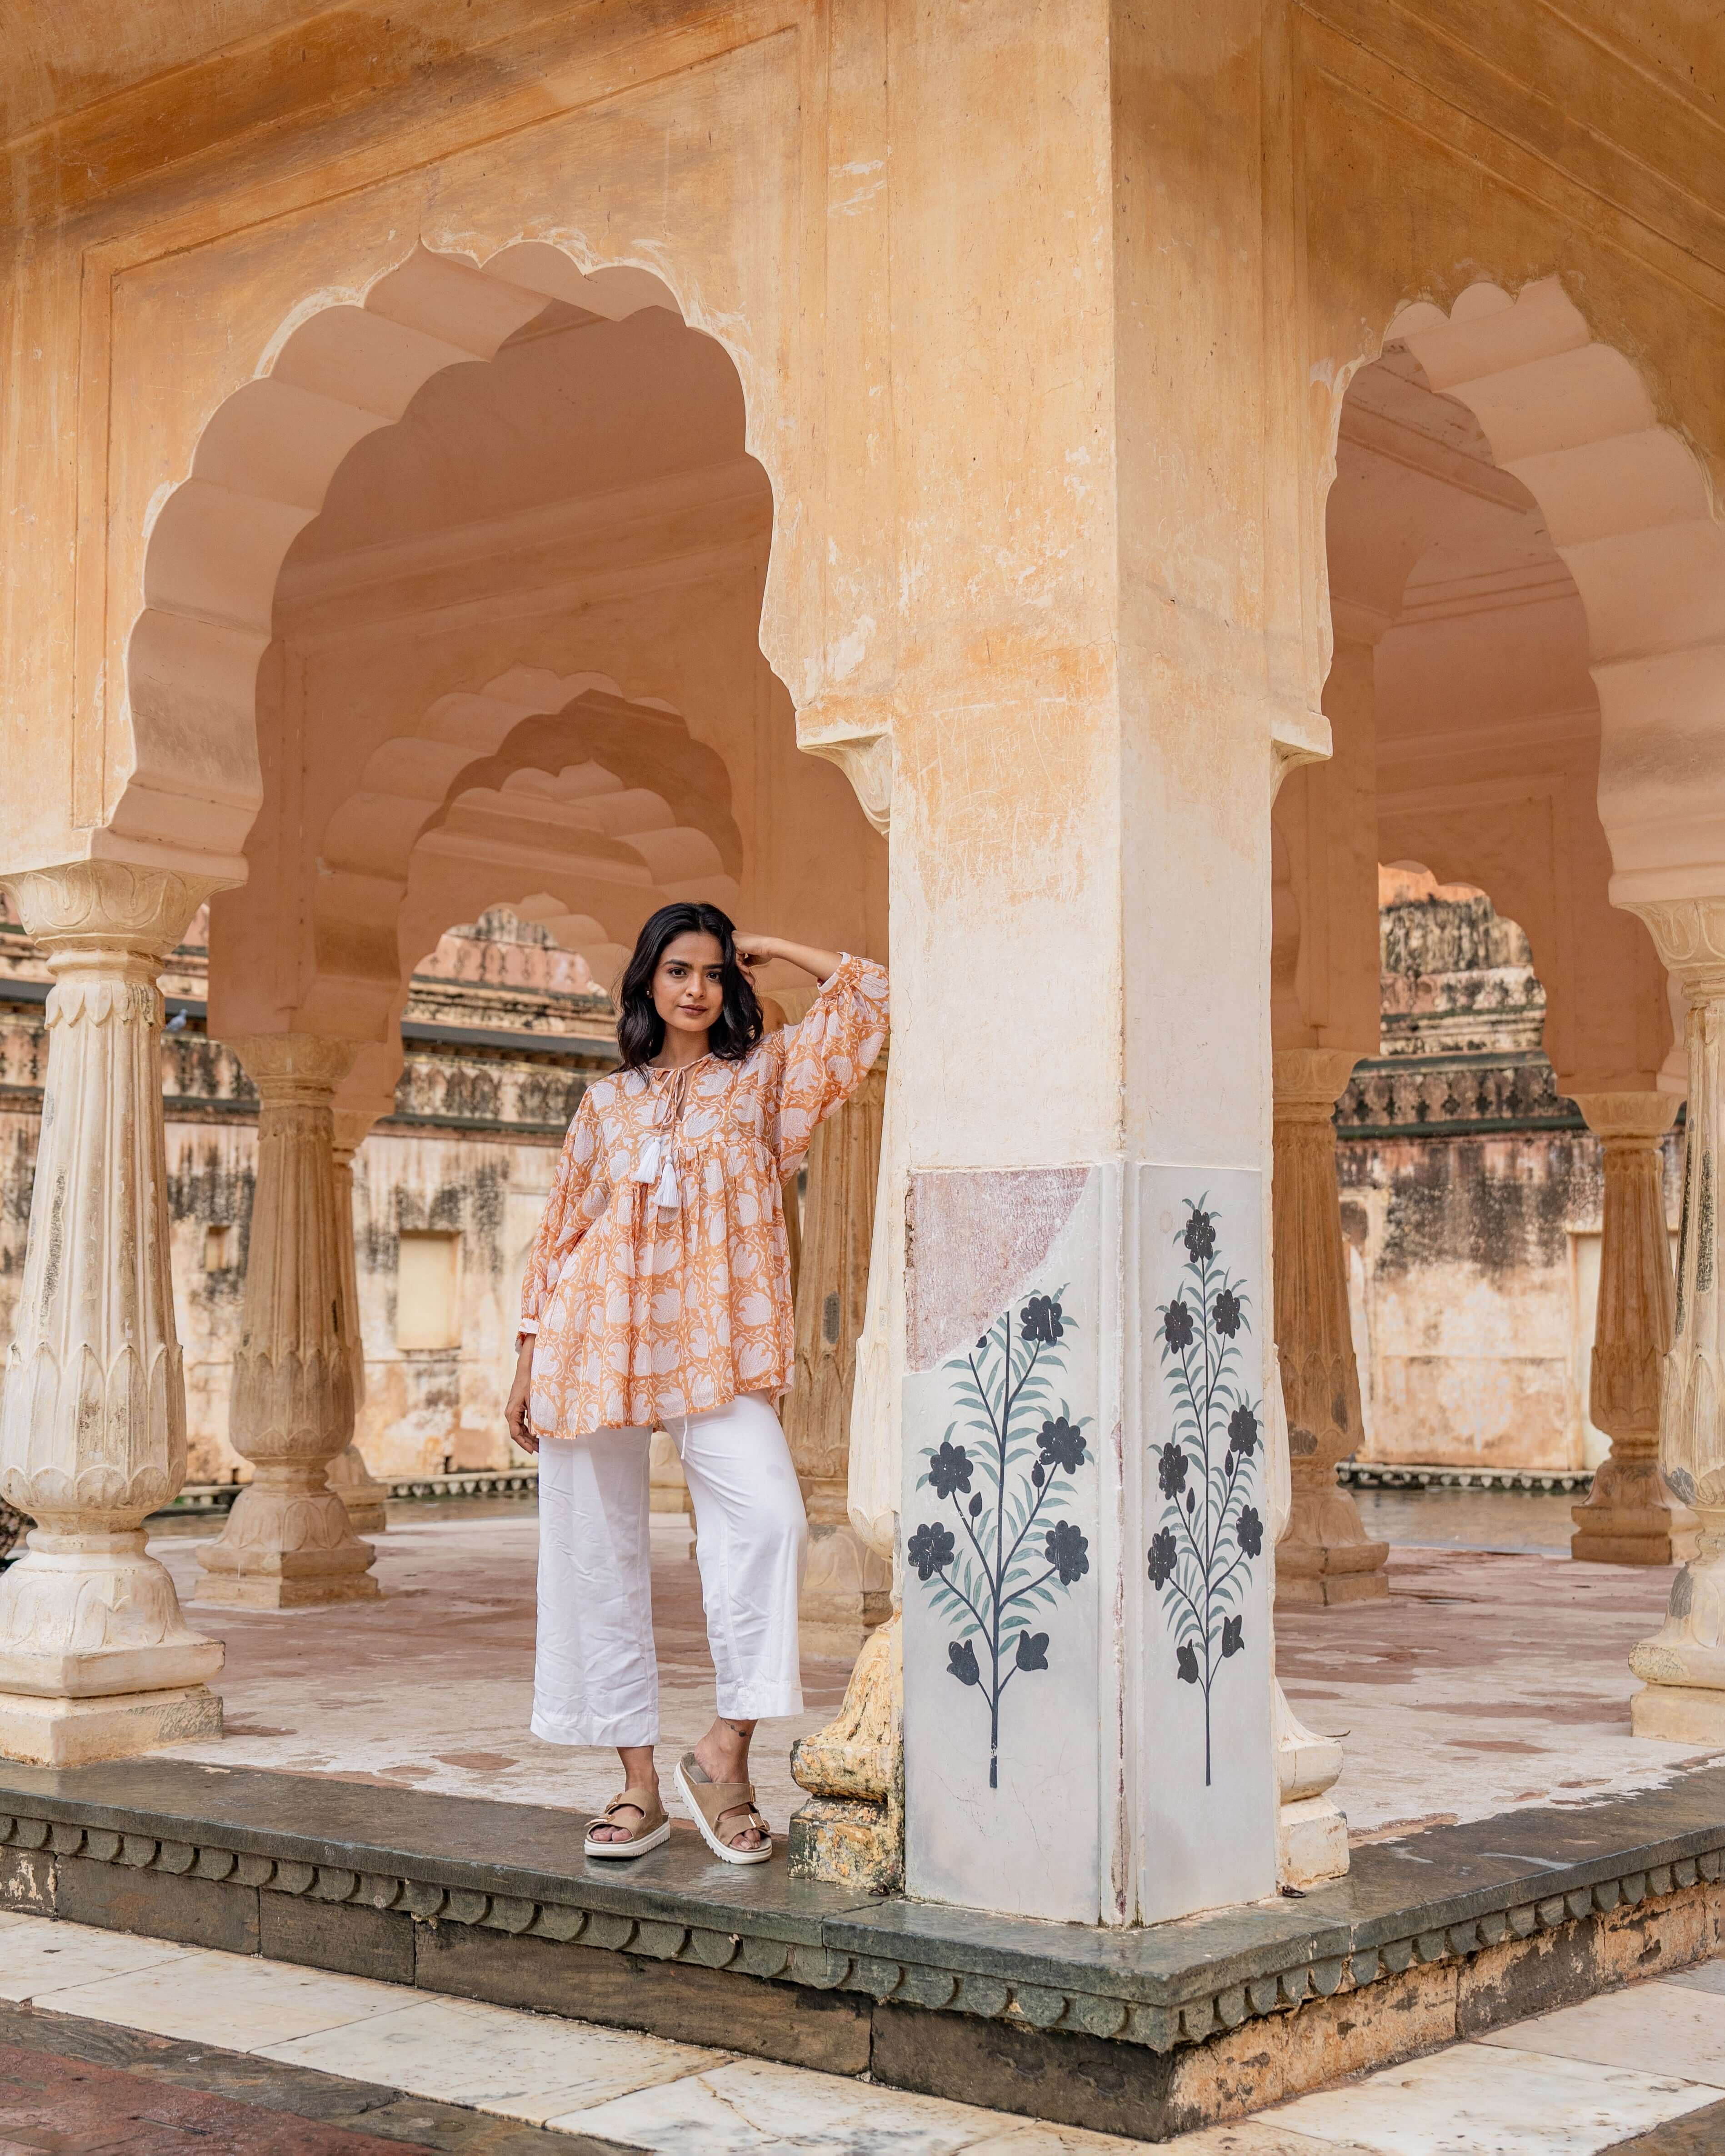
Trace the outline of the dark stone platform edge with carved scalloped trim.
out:
[[[0,1764],[0,1904],[871,2074],[1160,2141],[1725,1938],[1725,1766],[1354,1852],[1300,1899],[1089,1932],[328,1777]]]

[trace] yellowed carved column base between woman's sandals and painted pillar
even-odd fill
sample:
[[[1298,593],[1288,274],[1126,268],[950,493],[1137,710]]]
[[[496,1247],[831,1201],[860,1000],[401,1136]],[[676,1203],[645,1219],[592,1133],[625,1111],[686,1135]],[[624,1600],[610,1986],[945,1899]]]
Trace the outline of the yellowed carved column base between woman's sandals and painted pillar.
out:
[[[903,1884],[903,1628],[869,1634],[837,1716],[791,1744],[791,1774],[811,1792],[791,1815],[791,1878],[862,1893]]]

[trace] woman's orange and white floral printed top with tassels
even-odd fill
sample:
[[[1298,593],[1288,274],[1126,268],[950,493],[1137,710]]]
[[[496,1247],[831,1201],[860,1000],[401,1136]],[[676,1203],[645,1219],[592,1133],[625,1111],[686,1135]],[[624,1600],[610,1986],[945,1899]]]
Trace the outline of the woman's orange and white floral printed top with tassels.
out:
[[[653,1427],[791,1382],[781,1177],[886,1039],[886,972],[845,957],[740,1063],[625,1069],[582,1093],[522,1283],[541,1436]]]

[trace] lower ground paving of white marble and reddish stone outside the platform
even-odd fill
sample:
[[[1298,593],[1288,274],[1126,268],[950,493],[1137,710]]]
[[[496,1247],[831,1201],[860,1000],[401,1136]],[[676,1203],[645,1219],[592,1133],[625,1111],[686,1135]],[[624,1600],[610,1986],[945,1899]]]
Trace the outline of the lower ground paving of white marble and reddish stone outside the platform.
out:
[[[1143,2143],[254,1955],[0,1915],[4,2156],[1130,2156]],[[1719,2156],[1725,1964],[1171,2156]]]

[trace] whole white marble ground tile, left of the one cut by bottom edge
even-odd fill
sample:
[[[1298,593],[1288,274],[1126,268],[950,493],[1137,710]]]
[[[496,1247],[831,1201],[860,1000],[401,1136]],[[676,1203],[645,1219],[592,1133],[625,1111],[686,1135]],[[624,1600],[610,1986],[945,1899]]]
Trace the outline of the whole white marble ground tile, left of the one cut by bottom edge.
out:
[[[550,2020],[466,1999],[427,1999],[425,1992],[405,1996],[397,2014],[321,2035],[254,2044],[252,2050],[533,2124],[561,2113],[584,2117],[591,2104],[724,2061],[724,2053],[630,2029]]]

